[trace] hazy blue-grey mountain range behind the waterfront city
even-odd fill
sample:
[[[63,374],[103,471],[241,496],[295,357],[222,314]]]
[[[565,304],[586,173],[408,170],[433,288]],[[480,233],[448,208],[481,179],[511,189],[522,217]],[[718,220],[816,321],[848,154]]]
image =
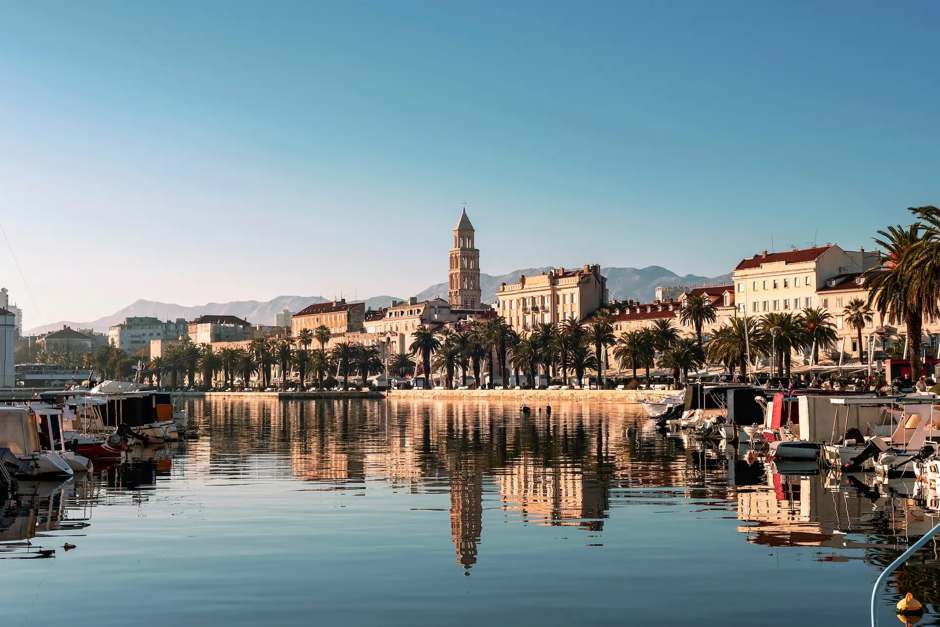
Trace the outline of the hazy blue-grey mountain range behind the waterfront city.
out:
[[[496,290],[499,290],[500,283],[515,283],[519,280],[520,274],[532,276],[552,270],[552,266],[543,268],[525,268],[515,270],[508,274],[493,276],[492,274],[479,274],[480,289],[483,290],[484,300],[489,295],[491,302]],[[602,268],[601,274],[607,277],[607,290],[611,298],[619,300],[634,299],[644,303],[649,303],[653,299],[653,293],[656,287],[661,285],[726,285],[731,282],[731,274],[722,274],[720,276],[698,276],[697,274],[675,274],[666,268],[660,266],[649,266],[647,268]],[[415,294],[418,300],[426,300],[439,296],[447,297],[447,284],[438,283],[432,285],[427,290]],[[392,300],[402,300],[398,296],[374,296],[366,299],[366,308],[378,309],[379,307],[389,306]],[[135,316],[155,316],[161,320],[176,320],[185,318],[193,320],[204,314],[226,314],[229,316],[238,316],[243,320],[254,324],[274,324],[274,315],[278,314],[285,307],[290,311],[297,312],[305,306],[314,303],[325,303],[327,299],[320,296],[277,296],[270,301],[234,301],[231,303],[207,303],[199,306],[181,306],[174,303],[159,303],[156,301],[138,300],[133,304],[126,306],[110,316],[104,316],[93,321],[58,321],[43,327],[34,327],[24,331],[24,335],[38,335],[44,333],[46,329],[55,331],[62,328],[63,325],[71,326],[73,329],[94,329],[106,333],[108,327],[112,324],[118,324],[125,318]]]

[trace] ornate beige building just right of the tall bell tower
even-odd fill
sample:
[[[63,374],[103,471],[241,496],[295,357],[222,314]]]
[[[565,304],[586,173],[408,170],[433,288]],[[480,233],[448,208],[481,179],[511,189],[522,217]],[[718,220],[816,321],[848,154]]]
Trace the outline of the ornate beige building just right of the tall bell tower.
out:
[[[607,302],[607,279],[601,266],[579,270],[556,268],[538,276],[521,275],[514,285],[502,283],[496,313],[519,333],[540,322],[584,319]]]

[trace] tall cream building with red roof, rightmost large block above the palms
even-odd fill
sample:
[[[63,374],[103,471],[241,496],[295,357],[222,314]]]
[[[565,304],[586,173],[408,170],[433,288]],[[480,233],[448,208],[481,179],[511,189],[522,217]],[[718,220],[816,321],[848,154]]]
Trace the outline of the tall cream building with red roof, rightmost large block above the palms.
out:
[[[877,262],[876,253],[848,252],[836,244],[783,253],[768,254],[765,250],[742,259],[734,269],[738,312],[754,316],[820,306],[816,290],[828,279],[864,272]]]

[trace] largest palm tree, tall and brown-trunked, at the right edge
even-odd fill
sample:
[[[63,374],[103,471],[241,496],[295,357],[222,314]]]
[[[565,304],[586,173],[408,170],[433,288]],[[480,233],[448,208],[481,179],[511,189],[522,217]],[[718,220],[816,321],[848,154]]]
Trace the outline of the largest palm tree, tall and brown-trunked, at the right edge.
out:
[[[932,218],[934,212],[928,208],[912,210]],[[911,376],[917,381],[923,374],[920,360],[920,343],[923,334],[924,315],[936,308],[935,285],[931,285],[936,263],[933,251],[936,250],[936,230],[931,225],[926,232],[921,232],[921,223],[908,227],[888,227],[880,230],[881,239],[875,243],[885,252],[878,258],[878,264],[862,274],[864,284],[869,288],[869,306],[881,314],[882,320],[889,324],[902,321],[907,327],[910,338]]]

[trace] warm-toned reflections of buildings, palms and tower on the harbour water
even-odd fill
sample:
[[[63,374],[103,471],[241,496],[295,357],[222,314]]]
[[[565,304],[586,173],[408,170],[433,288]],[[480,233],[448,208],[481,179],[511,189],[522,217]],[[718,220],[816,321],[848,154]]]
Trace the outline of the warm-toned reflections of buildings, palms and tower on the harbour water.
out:
[[[102,465],[65,484],[22,483],[21,494],[0,512],[0,558],[54,556],[62,536],[95,533],[92,514],[110,513],[101,506],[133,507],[144,515],[165,508],[162,493],[174,490],[185,494],[174,497],[172,515],[211,508],[199,499],[213,490],[239,494],[240,506],[276,493],[286,500],[287,511],[301,502],[297,494],[364,495],[356,500],[361,508],[411,512],[415,518],[447,507],[446,500],[433,501],[438,508],[424,507],[440,495],[448,499],[449,511],[434,523],[435,533],[449,536],[452,544],[450,555],[459,569],[451,558],[447,568],[466,575],[501,561],[498,550],[482,548],[488,534],[501,533],[496,523],[556,527],[561,540],[576,534],[582,545],[614,550],[610,547],[622,543],[625,534],[656,525],[680,521],[677,528],[694,539],[699,529],[730,518],[728,533],[734,537],[736,529],[742,547],[794,556],[815,547],[812,561],[819,565],[865,568],[856,590],[864,596],[878,570],[935,524],[940,503],[934,492],[918,492],[910,479],[829,477],[814,467],[747,462],[746,449],[656,431],[635,405],[566,402],[551,415],[536,410],[523,415],[499,403],[393,397],[319,403],[190,400],[188,409],[205,433],[198,440],[135,449],[128,462]],[[282,484],[288,487],[277,487]],[[346,507],[349,501],[338,502]],[[634,530],[619,525],[627,517]],[[133,517],[122,518],[120,525],[133,536]],[[271,526],[262,525],[258,533]],[[661,556],[678,544],[656,542]],[[539,546],[548,559],[557,550]],[[935,570],[940,561],[933,551],[928,545],[916,564],[897,572],[889,591],[895,596],[912,591],[921,601],[940,603]],[[435,555],[443,561],[443,554]],[[748,555],[766,558],[767,549]],[[631,568],[655,572],[662,557],[636,553],[630,559],[639,560]],[[679,561],[666,563],[685,568]]]

